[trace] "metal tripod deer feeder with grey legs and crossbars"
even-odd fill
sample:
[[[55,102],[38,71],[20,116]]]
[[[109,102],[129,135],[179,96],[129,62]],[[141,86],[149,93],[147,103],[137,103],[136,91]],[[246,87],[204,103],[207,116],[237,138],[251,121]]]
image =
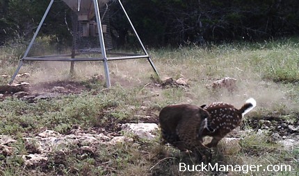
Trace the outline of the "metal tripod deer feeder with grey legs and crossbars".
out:
[[[104,73],[106,77],[106,87],[111,87],[111,80],[109,76],[109,69],[108,69],[108,61],[109,60],[128,60],[128,59],[139,59],[139,58],[146,58],[149,62],[149,64],[154,69],[155,73],[157,75],[158,71],[156,70],[156,67],[154,67],[154,63],[152,62],[149,54],[147,53],[145,46],[143,45],[143,42],[141,42],[140,37],[138,36],[138,33],[136,32],[131,19],[129,19],[129,16],[127,15],[126,10],[124,9],[124,6],[122,6],[122,3],[120,0],[118,0],[118,3],[120,4],[120,8],[124,12],[125,17],[129,21],[129,25],[131,26],[131,29],[134,32],[134,35],[136,35],[136,38],[138,39],[138,42],[140,46],[143,49],[143,54],[132,54],[132,53],[108,53],[108,49],[110,48],[110,45],[112,42],[109,42],[109,33],[108,29],[109,26],[107,24],[102,24],[103,20],[105,19],[104,16],[106,14],[106,10],[108,9],[107,0],[63,0],[67,6],[72,9],[74,14],[76,14],[76,27],[73,25],[73,42],[72,42],[72,53],[67,53],[63,55],[38,55],[38,56],[29,56],[29,51],[31,50],[31,47],[33,46],[33,43],[35,42],[35,39],[40,31],[40,28],[42,27],[42,24],[44,24],[44,21],[49,13],[49,10],[51,6],[54,3],[54,0],[51,0],[49,3],[49,6],[47,7],[47,10],[45,11],[45,14],[43,15],[40,24],[38,25],[38,28],[35,30],[35,33],[33,35],[33,38],[31,39],[31,42],[29,43],[29,46],[27,47],[23,58],[19,61],[19,65],[13,74],[10,84],[15,80],[15,77],[17,76],[17,73],[19,73],[19,69],[21,69],[22,64],[24,61],[62,61],[62,62],[70,62],[70,72],[72,73],[74,71],[74,62],[79,61],[103,61],[104,64]],[[101,14],[100,8],[104,7],[106,5],[106,10],[103,10],[104,12]],[[101,17],[102,15],[102,17]],[[96,19],[96,21],[92,21],[92,18]],[[81,32],[78,33],[78,31],[74,32],[74,28],[76,30],[81,28]],[[99,39],[99,46],[96,47],[96,49],[92,49],[91,46],[88,49],[79,49],[79,45],[76,44],[76,39],[80,37],[82,39],[84,36],[95,36],[97,39]],[[97,36],[98,35],[98,36]],[[111,37],[111,36],[110,36]],[[108,47],[107,47],[108,46]],[[99,57],[79,57],[82,53],[99,53]],[[107,53],[109,56],[107,56]]]

